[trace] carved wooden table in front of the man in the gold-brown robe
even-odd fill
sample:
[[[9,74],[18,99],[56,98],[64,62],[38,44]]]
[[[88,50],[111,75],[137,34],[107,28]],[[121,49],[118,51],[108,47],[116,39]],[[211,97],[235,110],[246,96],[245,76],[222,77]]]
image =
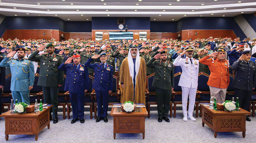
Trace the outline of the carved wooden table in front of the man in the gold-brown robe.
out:
[[[114,139],[116,133],[142,133],[145,138],[145,116],[148,115],[145,107],[130,113],[122,112],[121,107],[112,107],[110,115],[114,116]]]

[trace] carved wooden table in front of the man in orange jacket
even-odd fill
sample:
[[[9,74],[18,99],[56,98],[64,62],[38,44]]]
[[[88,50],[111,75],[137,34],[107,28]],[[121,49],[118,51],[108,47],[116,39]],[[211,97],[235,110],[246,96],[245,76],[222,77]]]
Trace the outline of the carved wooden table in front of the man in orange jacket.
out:
[[[243,132],[245,137],[246,115],[250,112],[240,108],[239,111],[224,111],[217,109],[209,109],[209,106],[203,107],[202,126],[208,125],[214,131],[214,137],[217,137],[217,132]]]

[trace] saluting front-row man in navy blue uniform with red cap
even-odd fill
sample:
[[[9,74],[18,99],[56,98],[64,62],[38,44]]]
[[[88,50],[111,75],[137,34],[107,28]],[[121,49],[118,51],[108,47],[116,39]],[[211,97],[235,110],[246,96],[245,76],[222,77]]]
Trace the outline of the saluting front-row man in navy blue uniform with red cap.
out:
[[[72,60],[74,63],[71,63]],[[78,117],[81,123],[84,123],[84,98],[85,92],[88,90],[89,73],[88,68],[80,63],[81,56],[79,53],[74,53],[72,57],[69,57],[65,63],[60,64],[59,70],[67,71],[66,83],[64,90],[69,91],[73,120],[71,123],[78,121]]]

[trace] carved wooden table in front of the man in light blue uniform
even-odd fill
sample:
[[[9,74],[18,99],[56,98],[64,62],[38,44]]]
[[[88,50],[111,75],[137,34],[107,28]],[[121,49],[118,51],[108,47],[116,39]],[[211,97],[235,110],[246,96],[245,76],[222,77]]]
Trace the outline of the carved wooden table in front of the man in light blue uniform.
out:
[[[50,108],[52,105],[43,111],[25,114],[7,111],[0,115],[0,117],[5,117],[5,139],[8,140],[9,135],[35,135],[37,140],[38,133],[46,126],[50,129]]]

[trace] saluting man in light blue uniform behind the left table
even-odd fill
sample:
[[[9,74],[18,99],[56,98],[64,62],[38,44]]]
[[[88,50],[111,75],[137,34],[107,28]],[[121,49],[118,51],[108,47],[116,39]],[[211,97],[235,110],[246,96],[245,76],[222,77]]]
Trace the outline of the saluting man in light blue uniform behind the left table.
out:
[[[29,92],[35,81],[34,64],[24,58],[25,49],[18,48],[10,52],[0,63],[1,67],[10,67],[12,73],[11,87],[13,100],[30,104]],[[8,61],[17,52],[17,59]]]

